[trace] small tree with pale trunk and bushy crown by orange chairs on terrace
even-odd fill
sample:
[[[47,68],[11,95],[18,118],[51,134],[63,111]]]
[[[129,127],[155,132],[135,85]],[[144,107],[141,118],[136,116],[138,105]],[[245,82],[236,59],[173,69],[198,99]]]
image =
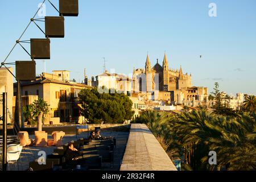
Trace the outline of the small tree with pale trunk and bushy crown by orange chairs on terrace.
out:
[[[32,107],[33,117],[38,119],[38,131],[42,131],[42,119],[44,118],[44,114],[48,114],[49,105],[43,98],[39,98],[39,100],[33,102]]]

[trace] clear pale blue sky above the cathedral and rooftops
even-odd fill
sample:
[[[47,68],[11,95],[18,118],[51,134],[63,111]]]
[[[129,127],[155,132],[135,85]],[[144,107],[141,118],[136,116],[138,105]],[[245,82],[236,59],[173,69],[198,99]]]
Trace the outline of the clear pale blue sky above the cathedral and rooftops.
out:
[[[59,1],[51,1],[59,6]],[[0,2],[0,60],[40,2]],[[216,18],[208,15],[211,2],[217,5]],[[144,67],[147,51],[152,66],[157,58],[162,63],[166,51],[170,68],[181,64],[183,72],[192,73],[195,86],[212,91],[217,81],[228,94],[256,94],[255,9],[255,0],[80,0],[79,16],[65,17],[65,38],[51,39],[47,72],[68,69],[81,81],[84,68],[89,77],[101,73],[106,57],[107,69],[128,75],[134,67]],[[58,15],[49,3],[46,10],[48,16]],[[31,24],[22,40],[43,37]],[[7,61],[29,59],[18,46]],[[36,67],[37,73],[43,72],[41,61]]]

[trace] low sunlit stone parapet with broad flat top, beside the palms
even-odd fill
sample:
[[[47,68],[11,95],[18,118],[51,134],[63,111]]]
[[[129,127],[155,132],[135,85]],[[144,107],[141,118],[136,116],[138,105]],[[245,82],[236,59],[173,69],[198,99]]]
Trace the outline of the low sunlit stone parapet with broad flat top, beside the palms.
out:
[[[146,125],[132,124],[121,171],[177,171]]]

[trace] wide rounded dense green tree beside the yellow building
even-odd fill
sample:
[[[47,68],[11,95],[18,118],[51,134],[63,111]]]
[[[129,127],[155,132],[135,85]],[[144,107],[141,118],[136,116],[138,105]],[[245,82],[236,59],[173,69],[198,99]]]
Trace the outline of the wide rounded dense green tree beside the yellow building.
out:
[[[97,88],[83,89],[79,98],[81,114],[92,123],[123,123],[134,115],[131,110],[133,102],[123,93],[100,93]]]

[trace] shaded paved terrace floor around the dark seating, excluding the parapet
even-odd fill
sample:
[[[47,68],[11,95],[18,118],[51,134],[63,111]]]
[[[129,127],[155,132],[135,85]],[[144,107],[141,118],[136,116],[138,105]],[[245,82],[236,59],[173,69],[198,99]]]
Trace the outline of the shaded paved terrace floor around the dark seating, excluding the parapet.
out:
[[[104,163],[102,170],[114,170],[119,171],[119,168],[121,166],[123,154],[125,152],[125,147],[127,144],[127,140],[129,137],[129,132],[117,132],[117,131],[110,131],[110,132],[101,132],[102,136],[105,137],[115,137],[117,139],[117,147],[114,150],[114,166],[113,168],[109,168],[109,163]],[[77,140],[79,138],[87,138],[88,134],[86,132],[77,135],[65,135],[63,138],[64,143],[68,143],[72,140]],[[31,138],[34,138],[33,135],[31,135]],[[51,135],[48,135],[48,138],[51,138]],[[29,162],[34,161],[35,159],[38,159],[38,152],[39,151],[45,151],[46,154],[52,154],[53,150],[57,147],[23,147],[22,154],[20,154],[19,159],[19,170],[26,170],[28,169]],[[9,170],[18,170],[18,168],[15,166],[15,164],[10,164]]]

